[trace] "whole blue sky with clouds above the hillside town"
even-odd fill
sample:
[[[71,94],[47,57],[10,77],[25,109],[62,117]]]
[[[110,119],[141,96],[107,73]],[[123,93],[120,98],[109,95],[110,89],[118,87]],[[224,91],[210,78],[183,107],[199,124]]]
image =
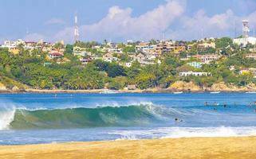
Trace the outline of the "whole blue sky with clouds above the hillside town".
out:
[[[256,28],[256,0],[0,0],[0,42],[194,40]],[[235,32],[236,30],[236,32]]]

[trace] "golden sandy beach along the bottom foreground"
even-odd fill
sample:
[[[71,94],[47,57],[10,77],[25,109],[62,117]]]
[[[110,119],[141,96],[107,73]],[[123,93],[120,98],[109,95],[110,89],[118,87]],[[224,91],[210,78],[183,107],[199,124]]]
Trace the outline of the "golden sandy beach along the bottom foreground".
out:
[[[255,158],[256,137],[0,146],[0,158]]]

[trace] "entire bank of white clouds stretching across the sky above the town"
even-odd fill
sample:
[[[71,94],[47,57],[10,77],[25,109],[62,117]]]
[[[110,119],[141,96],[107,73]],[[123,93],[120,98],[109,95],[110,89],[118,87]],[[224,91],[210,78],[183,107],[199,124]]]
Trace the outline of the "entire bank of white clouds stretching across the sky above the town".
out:
[[[241,0],[234,0],[241,1]],[[255,2],[246,0],[246,5]],[[234,37],[234,21],[237,21],[237,30],[242,30],[242,19],[248,19],[251,27],[256,27],[256,11],[246,17],[235,16],[232,10],[215,15],[207,15],[205,10],[199,10],[194,15],[186,14],[186,0],[167,0],[163,5],[157,6],[137,17],[132,16],[131,8],[112,6],[108,14],[100,21],[91,25],[81,25],[81,41],[112,41],[162,39],[163,32],[166,38],[174,40],[191,40],[201,37]],[[238,23],[241,21],[240,23]],[[61,23],[57,19],[48,21],[48,24]],[[241,28],[239,28],[241,26]],[[66,27],[57,33],[33,33],[26,39],[44,39],[45,41],[73,42],[73,27]]]

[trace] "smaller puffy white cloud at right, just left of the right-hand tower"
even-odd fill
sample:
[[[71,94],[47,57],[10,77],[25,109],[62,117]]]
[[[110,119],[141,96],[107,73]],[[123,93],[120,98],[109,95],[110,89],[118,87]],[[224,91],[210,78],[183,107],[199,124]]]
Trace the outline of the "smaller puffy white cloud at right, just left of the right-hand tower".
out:
[[[199,10],[193,17],[183,16],[182,28],[173,32],[177,39],[199,39],[203,37],[229,36],[234,29],[234,14],[227,10],[223,14],[207,16],[204,10]]]

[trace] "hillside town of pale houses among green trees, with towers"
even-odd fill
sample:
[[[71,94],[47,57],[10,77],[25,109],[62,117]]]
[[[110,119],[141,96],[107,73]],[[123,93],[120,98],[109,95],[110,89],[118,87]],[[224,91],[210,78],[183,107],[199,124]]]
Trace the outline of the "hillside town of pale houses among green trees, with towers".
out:
[[[195,41],[4,41],[0,89],[255,91],[256,38]]]

